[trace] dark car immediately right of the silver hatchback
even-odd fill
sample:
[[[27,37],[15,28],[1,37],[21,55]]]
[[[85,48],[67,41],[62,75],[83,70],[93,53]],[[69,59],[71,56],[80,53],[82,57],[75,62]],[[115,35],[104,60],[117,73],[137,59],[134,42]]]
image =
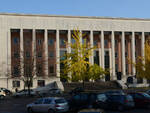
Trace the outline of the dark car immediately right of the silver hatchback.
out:
[[[84,108],[92,108],[95,102],[95,93],[78,93],[68,99],[70,110],[78,111]]]

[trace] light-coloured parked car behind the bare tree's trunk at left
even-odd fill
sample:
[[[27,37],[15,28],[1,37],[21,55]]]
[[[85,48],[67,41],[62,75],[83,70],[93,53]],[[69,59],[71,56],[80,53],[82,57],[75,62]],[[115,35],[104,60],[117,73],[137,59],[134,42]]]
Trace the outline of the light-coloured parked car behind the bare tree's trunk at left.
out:
[[[14,97],[21,97],[21,96],[27,96],[28,95],[28,90],[27,89],[23,89],[21,91],[18,91],[16,93],[13,94]],[[30,96],[35,96],[36,92],[33,91],[32,89],[30,89]]]

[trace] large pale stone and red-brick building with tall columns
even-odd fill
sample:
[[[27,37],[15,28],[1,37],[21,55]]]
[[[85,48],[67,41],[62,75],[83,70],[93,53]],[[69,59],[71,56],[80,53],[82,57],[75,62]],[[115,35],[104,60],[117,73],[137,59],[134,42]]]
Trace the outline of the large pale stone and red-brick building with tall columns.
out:
[[[0,87],[23,88],[20,78],[30,70],[28,61],[40,73],[35,73],[33,88],[59,81],[60,56],[71,52],[64,41],[73,43],[72,33],[77,28],[86,33],[84,38],[91,47],[96,46],[90,63],[110,68],[105,81],[149,83],[136,79],[136,69],[128,59],[136,62],[138,56],[144,56],[150,19],[0,14]]]

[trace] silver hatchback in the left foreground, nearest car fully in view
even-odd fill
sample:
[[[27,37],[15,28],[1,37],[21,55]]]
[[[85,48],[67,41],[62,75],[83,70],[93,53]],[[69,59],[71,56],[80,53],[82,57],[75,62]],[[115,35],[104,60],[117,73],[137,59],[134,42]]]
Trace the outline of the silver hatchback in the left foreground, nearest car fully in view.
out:
[[[27,105],[28,113],[57,113],[67,112],[69,110],[68,102],[63,97],[46,97]]]

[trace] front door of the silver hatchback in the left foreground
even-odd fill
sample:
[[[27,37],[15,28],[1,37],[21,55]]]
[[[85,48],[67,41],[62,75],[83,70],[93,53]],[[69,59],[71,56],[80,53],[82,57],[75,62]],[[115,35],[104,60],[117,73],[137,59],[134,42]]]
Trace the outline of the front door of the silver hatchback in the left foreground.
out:
[[[32,107],[34,112],[43,112],[42,110],[43,100],[44,99],[41,98],[34,102],[33,107]]]

